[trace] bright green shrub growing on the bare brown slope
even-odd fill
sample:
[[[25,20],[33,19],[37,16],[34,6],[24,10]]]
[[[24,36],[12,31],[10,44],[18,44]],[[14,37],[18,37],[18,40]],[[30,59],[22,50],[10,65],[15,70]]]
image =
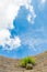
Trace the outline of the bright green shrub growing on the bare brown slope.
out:
[[[27,56],[27,58],[22,59],[20,62],[21,66],[23,66],[23,68],[26,68],[27,63],[31,63],[34,65],[35,59]]]

